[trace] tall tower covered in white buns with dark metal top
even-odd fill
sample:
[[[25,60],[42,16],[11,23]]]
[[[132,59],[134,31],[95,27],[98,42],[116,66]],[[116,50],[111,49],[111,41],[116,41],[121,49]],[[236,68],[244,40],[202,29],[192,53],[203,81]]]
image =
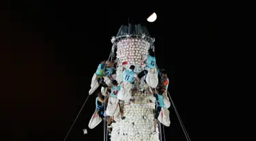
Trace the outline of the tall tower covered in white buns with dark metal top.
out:
[[[117,57],[117,82],[121,83],[123,68],[135,66],[135,73],[144,70],[148,49],[154,49],[154,39],[150,37],[147,28],[141,24],[121,26],[116,37],[111,40]],[[143,80],[142,78],[141,80]],[[132,100],[120,102],[124,107],[125,119],[115,116],[112,123],[111,141],[158,141],[158,129],[154,132],[155,98],[152,94],[140,91],[144,81],[137,87],[137,93]]]

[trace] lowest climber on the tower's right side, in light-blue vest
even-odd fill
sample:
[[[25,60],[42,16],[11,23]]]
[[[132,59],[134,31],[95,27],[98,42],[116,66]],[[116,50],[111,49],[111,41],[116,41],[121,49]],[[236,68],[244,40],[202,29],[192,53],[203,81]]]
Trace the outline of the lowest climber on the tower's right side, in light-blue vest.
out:
[[[156,94],[153,95],[156,98],[156,105],[155,105],[156,113],[154,116],[154,132],[156,132],[156,125],[157,125],[158,116],[161,111],[161,108],[166,108],[164,101],[162,100],[162,93],[163,93],[162,89],[160,87],[158,87],[156,89]]]

